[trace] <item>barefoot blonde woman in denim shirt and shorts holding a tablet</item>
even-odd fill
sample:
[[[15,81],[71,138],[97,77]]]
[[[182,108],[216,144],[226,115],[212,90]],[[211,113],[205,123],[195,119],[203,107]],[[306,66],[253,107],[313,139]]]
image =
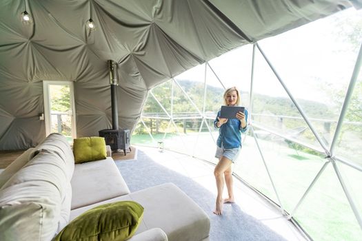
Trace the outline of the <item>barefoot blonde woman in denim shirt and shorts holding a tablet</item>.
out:
[[[225,90],[223,94],[225,105],[238,106],[240,103],[240,94],[237,87],[231,87]],[[222,205],[225,202],[234,202],[233,180],[232,180],[232,163],[237,160],[241,149],[241,132],[246,131],[248,125],[248,111],[237,112],[235,118],[220,118],[220,111],[214,121],[214,126],[219,129],[219,138],[217,138],[216,158],[219,163],[215,167],[214,176],[217,181],[217,202],[214,213],[221,215]],[[228,189],[228,198],[223,200],[223,187],[226,183]]]

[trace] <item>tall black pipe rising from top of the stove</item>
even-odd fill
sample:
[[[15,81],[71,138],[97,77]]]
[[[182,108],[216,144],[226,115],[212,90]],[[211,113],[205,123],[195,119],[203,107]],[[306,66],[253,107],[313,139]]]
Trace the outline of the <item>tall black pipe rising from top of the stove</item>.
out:
[[[118,72],[117,62],[109,60],[108,70],[110,75],[110,100],[112,107],[112,129],[118,129],[118,107],[117,107],[117,85],[118,85]]]

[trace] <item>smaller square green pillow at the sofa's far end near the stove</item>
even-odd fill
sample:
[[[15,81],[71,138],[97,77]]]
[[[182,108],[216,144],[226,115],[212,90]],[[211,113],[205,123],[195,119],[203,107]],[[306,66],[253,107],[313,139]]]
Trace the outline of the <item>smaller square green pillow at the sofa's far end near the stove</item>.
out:
[[[103,137],[92,136],[74,139],[73,153],[75,163],[86,163],[107,157]]]

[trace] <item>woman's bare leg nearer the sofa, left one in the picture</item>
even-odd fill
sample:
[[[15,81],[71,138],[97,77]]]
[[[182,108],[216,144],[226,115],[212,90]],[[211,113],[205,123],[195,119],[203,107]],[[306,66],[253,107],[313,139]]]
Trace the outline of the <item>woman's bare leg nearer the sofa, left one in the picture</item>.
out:
[[[225,158],[225,156],[221,156],[219,159],[219,163],[217,163],[217,166],[214,170],[214,176],[217,181],[217,202],[216,202],[216,208],[214,213],[216,215],[221,215],[221,207],[223,205],[223,186],[225,183],[223,174],[224,172],[231,167],[232,161],[228,158]]]

